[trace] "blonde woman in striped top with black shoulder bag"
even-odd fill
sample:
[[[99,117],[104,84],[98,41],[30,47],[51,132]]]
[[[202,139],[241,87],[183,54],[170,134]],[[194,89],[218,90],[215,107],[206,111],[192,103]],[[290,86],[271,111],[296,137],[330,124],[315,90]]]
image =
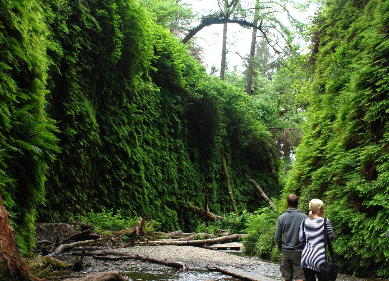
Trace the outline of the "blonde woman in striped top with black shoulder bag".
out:
[[[306,218],[300,225],[299,239],[305,243],[301,253],[301,267],[303,268],[305,280],[321,281],[321,270],[324,266],[324,219],[327,223],[327,239],[333,242],[334,231],[328,218],[322,218],[324,203],[320,199],[312,199],[309,202],[309,218]],[[304,224],[304,229],[303,229]]]

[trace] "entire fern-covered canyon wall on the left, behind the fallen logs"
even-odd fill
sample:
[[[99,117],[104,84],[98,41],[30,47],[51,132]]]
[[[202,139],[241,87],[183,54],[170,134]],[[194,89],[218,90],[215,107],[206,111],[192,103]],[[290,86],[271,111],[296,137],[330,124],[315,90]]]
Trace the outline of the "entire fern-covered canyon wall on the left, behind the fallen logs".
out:
[[[0,192],[19,246],[35,220],[121,209],[164,230],[195,227],[177,201],[230,211],[280,191],[264,114],[205,73],[133,0],[0,3]],[[3,48],[4,46],[4,48]]]

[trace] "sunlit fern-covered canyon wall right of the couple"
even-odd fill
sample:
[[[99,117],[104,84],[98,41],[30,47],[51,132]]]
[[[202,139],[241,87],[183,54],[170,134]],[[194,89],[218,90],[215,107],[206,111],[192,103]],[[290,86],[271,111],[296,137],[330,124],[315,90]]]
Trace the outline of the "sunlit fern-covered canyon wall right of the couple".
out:
[[[286,193],[319,197],[341,271],[389,277],[389,2],[328,0],[311,106]]]

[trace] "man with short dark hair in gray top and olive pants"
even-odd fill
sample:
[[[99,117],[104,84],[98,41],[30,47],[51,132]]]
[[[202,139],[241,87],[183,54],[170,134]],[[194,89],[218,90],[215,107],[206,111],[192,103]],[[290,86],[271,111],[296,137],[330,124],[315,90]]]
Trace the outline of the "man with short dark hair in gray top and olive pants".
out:
[[[308,216],[297,209],[298,197],[291,194],[287,198],[288,209],[280,215],[275,229],[275,241],[282,253],[281,277],[286,281],[296,279],[305,280],[303,269],[301,268],[302,245],[298,240],[301,222]]]

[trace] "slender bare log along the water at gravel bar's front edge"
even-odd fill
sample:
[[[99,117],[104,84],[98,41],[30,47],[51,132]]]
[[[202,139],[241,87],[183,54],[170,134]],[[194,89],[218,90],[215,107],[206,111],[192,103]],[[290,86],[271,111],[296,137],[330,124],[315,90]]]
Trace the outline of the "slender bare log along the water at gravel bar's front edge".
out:
[[[144,256],[133,255],[129,253],[117,253],[117,252],[109,252],[109,251],[103,251],[103,253],[105,253],[106,256],[95,255],[93,256],[93,258],[96,258],[98,260],[142,260],[144,262],[153,262],[154,264],[162,264],[174,268],[179,268],[182,269],[183,271],[191,270],[186,264],[182,262],[169,262],[167,260],[159,260],[158,258],[144,257]]]

